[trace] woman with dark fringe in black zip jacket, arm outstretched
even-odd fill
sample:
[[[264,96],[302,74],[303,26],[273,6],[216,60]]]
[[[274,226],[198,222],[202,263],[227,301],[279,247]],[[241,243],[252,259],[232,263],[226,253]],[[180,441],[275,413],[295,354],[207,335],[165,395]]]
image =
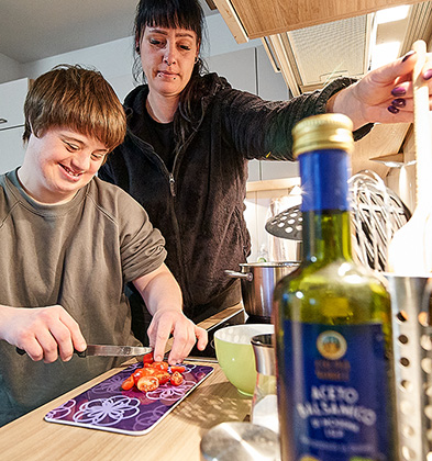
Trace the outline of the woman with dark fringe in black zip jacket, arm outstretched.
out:
[[[321,91],[268,102],[203,74],[203,21],[198,0],[140,1],[135,50],[146,85],[126,97],[126,138],[100,171],[163,232],[166,263],[195,322],[241,300],[239,281],[224,270],[237,270],[251,249],[243,217],[247,160],[292,160],[291,128],[309,115],[348,115],[355,139],[375,122],[412,121],[416,63],[410,53],[362,80],[340,78]]]

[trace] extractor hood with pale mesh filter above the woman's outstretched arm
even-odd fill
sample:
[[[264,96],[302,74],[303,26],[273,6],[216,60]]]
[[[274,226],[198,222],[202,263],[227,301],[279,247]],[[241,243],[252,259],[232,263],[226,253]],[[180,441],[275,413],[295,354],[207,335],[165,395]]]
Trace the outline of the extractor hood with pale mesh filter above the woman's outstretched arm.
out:
[[[405,20],[377,24],[376,13],[263,37],[276,71],[280,71],[292,95],[322,88],[334,78],[359,78],[370,68],[375,45],[401,43],[399,56],[431,33],[431,2],[409,7]]]

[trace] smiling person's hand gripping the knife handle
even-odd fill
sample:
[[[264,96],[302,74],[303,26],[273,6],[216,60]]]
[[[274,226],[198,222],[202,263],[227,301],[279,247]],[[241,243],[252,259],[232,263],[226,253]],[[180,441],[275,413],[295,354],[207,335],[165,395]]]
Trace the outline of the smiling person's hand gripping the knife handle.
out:
[[[70,360],[74,348],[86,349],[77,322],[60,306],[0,310],[0,338],[25,350],[34,361]]]

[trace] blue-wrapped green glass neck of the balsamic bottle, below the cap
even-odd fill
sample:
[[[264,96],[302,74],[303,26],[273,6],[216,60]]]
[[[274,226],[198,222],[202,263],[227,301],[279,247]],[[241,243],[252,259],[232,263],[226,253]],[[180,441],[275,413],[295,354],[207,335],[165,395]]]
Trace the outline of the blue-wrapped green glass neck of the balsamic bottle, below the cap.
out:
[[[352,259],[348,155],[323,149],[299,156],[303,261]]]

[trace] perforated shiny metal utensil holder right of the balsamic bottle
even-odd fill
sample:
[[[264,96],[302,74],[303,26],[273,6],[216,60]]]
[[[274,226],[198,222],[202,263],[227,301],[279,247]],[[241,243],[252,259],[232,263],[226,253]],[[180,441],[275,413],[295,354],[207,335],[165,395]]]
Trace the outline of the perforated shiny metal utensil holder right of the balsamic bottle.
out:
[[[432,461],[432,278],[386,274],[391,296],[399,461]]]

